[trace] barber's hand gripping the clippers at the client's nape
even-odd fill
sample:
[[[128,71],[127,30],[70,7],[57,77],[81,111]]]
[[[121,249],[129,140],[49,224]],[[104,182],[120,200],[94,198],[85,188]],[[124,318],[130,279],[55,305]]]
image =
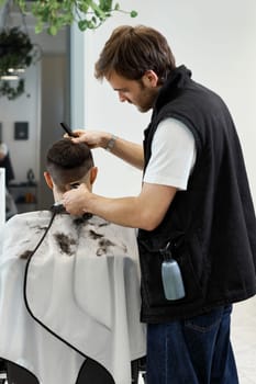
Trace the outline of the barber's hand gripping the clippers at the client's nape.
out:
[[[77,189],[65,192],[63,195],[63,205],[66,211],[75,216],[86,213],[86,201],[90,191],[85,184],[80,184]]]

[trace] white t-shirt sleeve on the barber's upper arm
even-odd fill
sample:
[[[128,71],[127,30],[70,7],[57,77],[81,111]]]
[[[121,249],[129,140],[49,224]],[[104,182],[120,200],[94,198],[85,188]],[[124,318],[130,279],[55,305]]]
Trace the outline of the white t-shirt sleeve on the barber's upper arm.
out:
[[[153,137],[152,157],[143,181],[186,190],[194,161],[191,131],[182,122],[168,117],[159,123]]]

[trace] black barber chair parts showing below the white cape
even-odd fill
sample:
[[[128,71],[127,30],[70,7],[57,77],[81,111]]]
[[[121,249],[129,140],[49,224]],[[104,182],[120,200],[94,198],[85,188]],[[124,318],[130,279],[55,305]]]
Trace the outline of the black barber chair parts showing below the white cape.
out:
[[[25,369],[12,362],[5,362],[8,384],[40,384],[37,379]],[[145,358],[132,362],[132,384],[138,384],[140,372],[146,383]],[[3,384],[4,382],[2,382]],[[116,384],[109,372],[91,359],[87,359],[74,384]],[[1,382],[0,382],[1,384]]]

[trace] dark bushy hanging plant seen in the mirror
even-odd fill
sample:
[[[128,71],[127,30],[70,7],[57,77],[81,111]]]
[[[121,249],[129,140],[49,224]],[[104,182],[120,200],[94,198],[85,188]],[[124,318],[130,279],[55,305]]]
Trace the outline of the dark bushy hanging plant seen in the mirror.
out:
[[[18,27],[0,32],[0,97],[14,100],[24,92],[24,79],[8,80],[29,67],[35,56],[27,34]]]

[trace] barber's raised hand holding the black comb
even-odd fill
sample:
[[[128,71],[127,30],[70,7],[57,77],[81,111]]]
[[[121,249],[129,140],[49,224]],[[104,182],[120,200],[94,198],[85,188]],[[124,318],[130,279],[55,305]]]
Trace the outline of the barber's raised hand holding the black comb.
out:
[[[77,137],[71,138],[74,143],[86,143],[89,148],[105,148],[111,134],[100,131],[74,131]]]

